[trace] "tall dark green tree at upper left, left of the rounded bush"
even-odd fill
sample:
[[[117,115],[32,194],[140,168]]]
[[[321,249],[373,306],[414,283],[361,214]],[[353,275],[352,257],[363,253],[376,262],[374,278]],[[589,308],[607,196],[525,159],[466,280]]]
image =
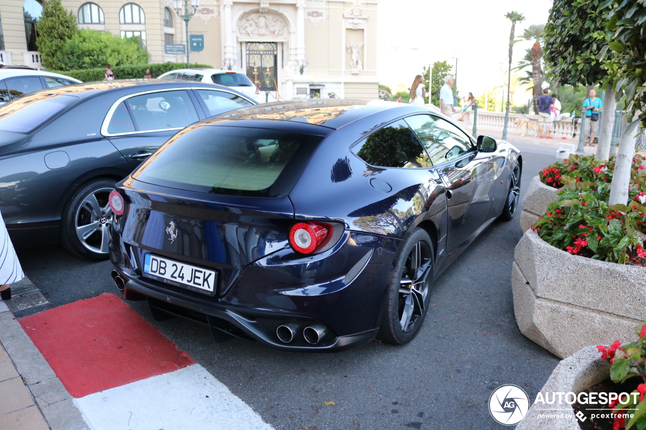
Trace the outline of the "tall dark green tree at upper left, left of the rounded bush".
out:
[[[62,70],[63,65],[57,61],[56,54],[78,32],[76,17],[72,12],[65,12],[61,0],[45,1],[38,20],[38,52],[43,66]]]

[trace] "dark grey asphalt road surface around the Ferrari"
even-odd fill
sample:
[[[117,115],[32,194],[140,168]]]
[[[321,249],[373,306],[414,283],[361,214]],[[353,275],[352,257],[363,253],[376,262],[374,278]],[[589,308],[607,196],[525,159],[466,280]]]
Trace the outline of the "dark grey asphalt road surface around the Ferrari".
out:
[[[524,156],[522,198],[556,149],[517,147]],[[488,413],[490,393],[515,384],[534,398],[558,362],[514,321],[519,218],[517,212],[508,223],[495,222],[444,272],[424,326],[403,347],[371,342],[341,353],[303,354],[245,340],[215,343],[205,327],[155,322],[145,302],[128,303],[276,429],[502,429]],[[117,292],[109,261],[80,260],[59,248],[23,250],[19,258],[50,305],[17,316]]]

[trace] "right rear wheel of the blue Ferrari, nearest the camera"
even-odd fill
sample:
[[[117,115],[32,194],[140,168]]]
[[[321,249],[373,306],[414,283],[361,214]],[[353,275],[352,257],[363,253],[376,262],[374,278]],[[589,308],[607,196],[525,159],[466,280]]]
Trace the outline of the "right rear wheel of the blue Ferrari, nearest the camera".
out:
[[[393,345],[404,345],[422,327],[431,298],[433,244],[428,233],[415,229],[402,245],[390,274],[386,312],[379,338]]]

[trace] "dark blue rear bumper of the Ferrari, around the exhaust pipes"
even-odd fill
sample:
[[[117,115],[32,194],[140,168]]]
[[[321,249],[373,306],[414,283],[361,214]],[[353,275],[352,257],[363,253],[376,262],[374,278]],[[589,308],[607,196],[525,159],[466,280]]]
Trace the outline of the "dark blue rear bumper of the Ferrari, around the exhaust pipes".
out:
[[[317,261],[289,260],[293,251],[287,249],[270,254],[247,265],[233,285],[220,289],[217,296],[144,278],[137,261],[147,251],[131,245],[126,249],[120,243],[116,249],[113,240],[110,258],[125,280],[126,300],[147,299],[153,311],[208,325],[216,339],[217,332],[224,331],[287,351],[340,351],[375,338],[385,306],[386,279],[400,240],[346,232],[342,241]],[[276,336],[276,328],[286,322],[298,326],[289,343]],[[328,328],[315,345],[302,334],[313,324]]]

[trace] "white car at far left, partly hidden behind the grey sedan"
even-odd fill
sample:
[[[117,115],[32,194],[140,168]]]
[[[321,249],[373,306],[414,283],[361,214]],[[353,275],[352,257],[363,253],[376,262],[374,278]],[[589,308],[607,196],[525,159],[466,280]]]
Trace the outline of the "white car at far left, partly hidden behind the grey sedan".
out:
[[[74,79],[74,77],[44,70],[0,68],[0,105],[30,92],[76,83],[81,83],[81,81]]]

